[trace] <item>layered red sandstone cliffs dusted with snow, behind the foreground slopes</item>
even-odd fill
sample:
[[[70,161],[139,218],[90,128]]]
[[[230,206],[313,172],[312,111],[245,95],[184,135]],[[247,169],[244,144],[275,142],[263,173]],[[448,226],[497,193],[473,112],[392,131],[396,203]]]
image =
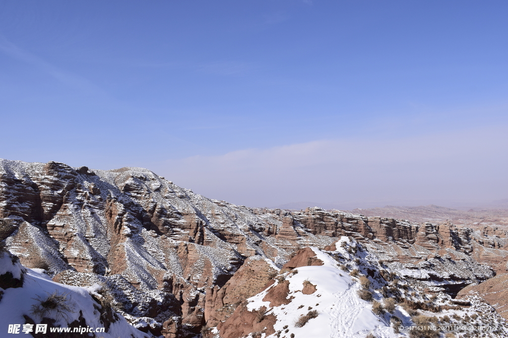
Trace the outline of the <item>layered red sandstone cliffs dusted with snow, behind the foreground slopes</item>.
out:
[[[479,282],[494,274],[479,264],[484,260],[506,271],[496,229],[321,208],[247,208],[194,194],[142,168],[0,160],[0,218],[0,236],[23,264],[42,261],[61,283],[104,285],[127,319],[167,337],[226,320],[295,251],[325,248],[340,236],[421,281]]]

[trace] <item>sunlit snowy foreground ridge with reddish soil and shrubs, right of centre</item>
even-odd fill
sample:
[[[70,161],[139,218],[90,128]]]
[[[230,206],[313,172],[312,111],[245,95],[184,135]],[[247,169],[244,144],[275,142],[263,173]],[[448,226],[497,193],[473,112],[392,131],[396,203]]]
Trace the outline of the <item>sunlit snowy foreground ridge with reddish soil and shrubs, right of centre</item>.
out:
[[[414,338],[445,334],[447,337],[508,335],[504,319],[479,297],[456,301],[463,306],[452,305],[454,300],[450,295],[442,291],[426,291],[421,285],[411,284],[404,277],[384,270],[377,258],[356,241],[342,237],[335,246],[336,249],[331,251],[313,247],[310,254],[310,250],[299,251],[292,259],[297,261],[297,268],[292,268],[295,264],[285,266],[273,284],[246,299],[226,322],[210,329],[209,336]],[[311,255],[310,265],[308,258]],[[309,265],[300,266],[305,261]],[[387,281],[381,276],[379,271],[382,270],[384,276],[393,280]],[[414,309],[410,305],[415,305]],[[248,318],[256,320],[249,323]],[[239,329],[238,324],[242,322],[244,326]],[[400,326],[403,329],[399,331]],[[411,326],[414,330],[407,329]],[[426,326],[436,328],[426,330]],[[480,329],[480,326],[485,328]]]

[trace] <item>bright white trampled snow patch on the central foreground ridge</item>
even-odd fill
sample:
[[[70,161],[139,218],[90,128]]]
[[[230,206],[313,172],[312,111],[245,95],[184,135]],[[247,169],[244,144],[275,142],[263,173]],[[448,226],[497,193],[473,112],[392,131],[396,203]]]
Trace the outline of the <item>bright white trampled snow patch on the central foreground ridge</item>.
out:
[[[347,241],[347,238],[342,238],[342,241]],[[339,244],[337,243],[337,247]],[[315,247],[312,250],[324,265],[300,267],[295,269],[298,271],[296,274],[285,273],[285,279],[290,282],[288,297],[294,297],[290,304],[270,308],[270,303],[262,300],[269,290],[267,289],[249,298],[247,308],[250,311],[263,306],[269,309],[267,314],[277,317],[274,329],[282,331],[281,336],[289,337],[294,333],[296,337],[353,338],[365,337],[372,332],[384,338],[398,337],[390,323],[374,315],[371,304],[359,298],[357,291],[360,285],[356,279],[340,270],[330,255]],[[306,280],[316,286],[314,293],[301,292]],[[276,281],[273,286],[277,283]],[[303,327],[295,327],[295,321],[301,315],[307,314],[309,307],[317,310],[319,315],[310,319]],[[285,325],[289,326],[287,333],[284,333]],[[276,337],[276,333],[268,337]]]

